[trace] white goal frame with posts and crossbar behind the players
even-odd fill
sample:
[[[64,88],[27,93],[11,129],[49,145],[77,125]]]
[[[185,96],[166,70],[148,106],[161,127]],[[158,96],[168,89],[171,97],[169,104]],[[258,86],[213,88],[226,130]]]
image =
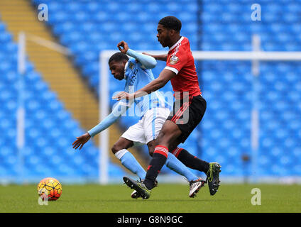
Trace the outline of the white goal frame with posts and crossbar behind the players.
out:
[[[257,86],[259,64],[260,61],[301,61],[301,52],[265,52],[261,51],[260,38],[253,35],[252,45],[253,51],[192,51],[192,55],[197,60],[241,60],[252,62],[253,86]],[[99,121],[102,121],[109,114],[109,57],[118,50],[104,50],[99,54]],[[158,50],[139,50],[138,52],[149,52],[154,55],[166,53],[167,51]],[[253,89],[256,90],[256,89]],[[258,96],[258,94],[254,94]],[[258,104],[253,99],[253,107],[251,110],[251,168],[252,172],[256,172],[258,144],[259,144],[259,114]],[[99,136],[99,183],[109,183],[108,175],[109,163],[109,128],[100,133]],[[252,175],[252,182],[257,181],[257,176]]]

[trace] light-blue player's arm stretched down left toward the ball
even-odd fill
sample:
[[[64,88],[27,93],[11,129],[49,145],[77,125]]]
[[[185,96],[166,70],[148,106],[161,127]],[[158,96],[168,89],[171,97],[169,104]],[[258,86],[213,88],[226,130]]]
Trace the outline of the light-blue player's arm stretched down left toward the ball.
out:
[[[114,122],[116,122],[124,112],[129,108],[129,106],[126,104],[124,101],[119,101],[116,106],[114,106],[114,109],[111,111],[111,114],[106,116],[104,120],[102,120],[97,126],[94,128],[90,129],[87,133],[84,133],[83,135],[80,135],[77,137],[75,142],[72,143],[73,148],[75,150],[77,148],[82,149],[84,143],[87,143],[87,141],[93,137],[94,135],[97,135],[98,133],[104,131],[106,128],[109,128]]]

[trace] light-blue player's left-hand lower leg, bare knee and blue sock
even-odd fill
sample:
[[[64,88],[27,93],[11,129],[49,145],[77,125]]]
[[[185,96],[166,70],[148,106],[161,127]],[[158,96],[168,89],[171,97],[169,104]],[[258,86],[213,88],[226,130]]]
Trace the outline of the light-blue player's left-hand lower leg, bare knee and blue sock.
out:
[[[138,175],[141,179],[146,176],[146,171],[139,164],[135,157],[127,150],[133,146],[133,141],[126,138],[119,138],[116,143],[111,148],[112,153],[121,161],[121,164],[126,167],[126,169],[133,172],[133,174]]]

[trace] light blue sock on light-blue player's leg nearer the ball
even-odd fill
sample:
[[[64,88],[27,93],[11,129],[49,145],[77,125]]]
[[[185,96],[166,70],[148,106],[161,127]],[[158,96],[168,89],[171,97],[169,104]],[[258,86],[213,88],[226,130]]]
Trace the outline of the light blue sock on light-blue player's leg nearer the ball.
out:
[[[115,156],[121,161],[121,164],[126,169],[138,175],[141,179],[146,178],[146,170],[139,164],[135,157],[126,149],[119,150],[115,153]]]

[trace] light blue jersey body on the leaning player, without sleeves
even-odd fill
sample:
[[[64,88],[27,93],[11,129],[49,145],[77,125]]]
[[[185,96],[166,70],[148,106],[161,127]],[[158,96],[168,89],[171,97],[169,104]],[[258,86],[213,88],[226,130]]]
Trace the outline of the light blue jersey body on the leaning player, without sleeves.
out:
[[[155,79],[153,77],[153,72],[151,70],[147,70],[141,62],[138,62],[133,57],[131,57],[126,64],[124,75],[124,79],[126,79],[124,92],[128,93],[138,91]],[[136,109],[140,110],[140,115],[138,115],[139,113],[135,114],[141,117],[146,113],[146,111],[155,107],[171,109],[171,105],[165,101],[163,94],[159,91],[134,99],[134,102],[136,106],[138,106]]]

